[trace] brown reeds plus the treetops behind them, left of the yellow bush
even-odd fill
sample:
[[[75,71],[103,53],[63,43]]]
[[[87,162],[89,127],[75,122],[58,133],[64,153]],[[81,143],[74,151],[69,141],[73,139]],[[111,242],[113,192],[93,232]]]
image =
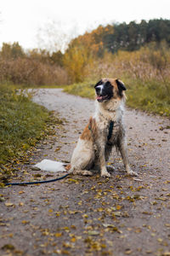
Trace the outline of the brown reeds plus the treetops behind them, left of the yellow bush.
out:
[[[68,75],[59,55],[33,49],[25,53],[20,44],[3,44],[0,52],[0,82],[26,85],[67,84]]]

